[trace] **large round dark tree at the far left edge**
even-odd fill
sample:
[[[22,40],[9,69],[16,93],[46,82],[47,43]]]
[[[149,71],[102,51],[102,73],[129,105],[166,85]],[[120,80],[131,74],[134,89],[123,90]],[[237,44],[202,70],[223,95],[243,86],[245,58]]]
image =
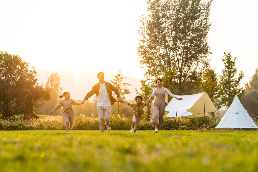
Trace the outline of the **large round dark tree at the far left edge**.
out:
[[[0,113],[3,117],[34,113],[37,104],[49,99],[47,89],[38,85],[36,69],[19,55],[0,52]]]

